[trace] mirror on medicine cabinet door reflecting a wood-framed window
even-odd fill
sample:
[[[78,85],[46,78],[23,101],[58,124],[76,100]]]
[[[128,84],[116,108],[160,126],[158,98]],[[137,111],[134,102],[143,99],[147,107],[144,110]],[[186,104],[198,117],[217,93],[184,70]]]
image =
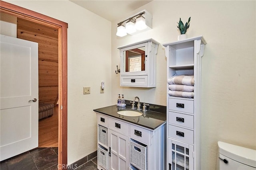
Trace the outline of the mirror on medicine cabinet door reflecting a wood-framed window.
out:
[[[145,47],[124,51],[124,58],[126,72],[145,70]]]

